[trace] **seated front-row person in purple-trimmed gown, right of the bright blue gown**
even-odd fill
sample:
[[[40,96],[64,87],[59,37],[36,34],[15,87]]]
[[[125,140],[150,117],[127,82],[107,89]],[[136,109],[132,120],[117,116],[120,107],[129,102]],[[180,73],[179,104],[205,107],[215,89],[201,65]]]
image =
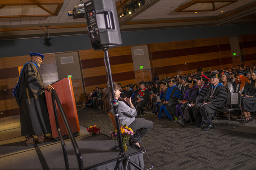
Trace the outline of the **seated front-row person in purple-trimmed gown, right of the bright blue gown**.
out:
[[[187,104],[191,105],[195,103],[196,96],[198,95],[198,87],[195,86],[196,83],[197,82],[195,80],[190,80],[188,82],[189,88],[184,94],[182,101],[179,102],[179,104],[176,106],[176,116],[175,116],[176,121],[179,117],[179,114],[180,114],[180,117],[183,118],[184,110],[188,106]]]

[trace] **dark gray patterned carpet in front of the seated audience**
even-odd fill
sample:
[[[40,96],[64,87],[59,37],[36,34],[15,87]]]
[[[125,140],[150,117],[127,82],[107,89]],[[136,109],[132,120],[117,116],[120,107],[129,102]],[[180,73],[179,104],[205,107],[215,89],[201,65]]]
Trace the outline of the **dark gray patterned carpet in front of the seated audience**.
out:
[[[113,126],[105,111],[91,108],[82,110],[80,107],[77,107],[80,125],[98,125],[101,133],[109,135]],[[235,130],[223,125],[205,131],[194,129],[195,123],[181,127],[174,121],[157,120],[154,113],[138,117],[154,123],[143,138],[153,170],[256,169],[256,134],[253,134],[256,124],[253,122]],[[227,119],[218,122],[227,122]],[[232,123],[237,124],[236,121]],[[145,169],[150,168],[145,153],[144,161]]]

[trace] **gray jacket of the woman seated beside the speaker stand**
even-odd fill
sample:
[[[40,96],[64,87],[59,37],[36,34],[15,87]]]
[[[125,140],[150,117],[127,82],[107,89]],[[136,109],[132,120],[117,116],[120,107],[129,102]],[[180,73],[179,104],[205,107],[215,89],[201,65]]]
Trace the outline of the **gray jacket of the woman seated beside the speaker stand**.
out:
[[[136,108],[130,108],[128,105],[125,104],[125,102],[122,101],[119,101],[119,106],[117,110],[121,126],[131,125],[131,123],[135,120],[135,116],[137,116]]]

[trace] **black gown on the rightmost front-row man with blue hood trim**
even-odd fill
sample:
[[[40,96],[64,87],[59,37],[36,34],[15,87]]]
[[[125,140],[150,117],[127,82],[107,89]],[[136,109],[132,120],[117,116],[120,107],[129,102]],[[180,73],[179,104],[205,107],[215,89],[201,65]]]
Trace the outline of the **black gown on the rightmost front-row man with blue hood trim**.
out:
[[[212,89],[210,91],[210,97],[206,101],[210,103],[205,104],[200,108],[200,112],[205,120],[205,123],[209,124],[212,124],[212,117],[215,114],[215,110],[219,108],[224,108],[224,104],[227,100],[227,90],[224,85],[221,85],[219,83],[216,86],[214,87],[216,88],[215,91],[213,91],[213,86],[211,87]]]

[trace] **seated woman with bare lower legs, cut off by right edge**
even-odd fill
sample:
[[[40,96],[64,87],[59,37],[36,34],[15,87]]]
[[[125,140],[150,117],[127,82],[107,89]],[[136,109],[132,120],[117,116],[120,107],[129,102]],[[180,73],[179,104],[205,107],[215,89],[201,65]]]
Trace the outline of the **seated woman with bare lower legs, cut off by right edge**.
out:
[[[243,108],[244,116],[246,117],[245,123],[252,122],[253,117],[250,112],[256,111],[256,69],[252,72],[252,82],[250,84],[250,94],[245,95],[242,99],[241,105]]]

